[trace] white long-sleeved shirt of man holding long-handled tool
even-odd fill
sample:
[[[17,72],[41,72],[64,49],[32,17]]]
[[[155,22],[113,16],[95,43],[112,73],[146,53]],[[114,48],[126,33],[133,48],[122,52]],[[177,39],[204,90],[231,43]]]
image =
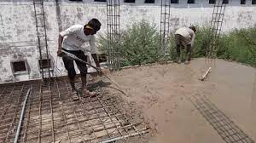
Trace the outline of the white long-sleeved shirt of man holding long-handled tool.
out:
[[[85,35],[84,26],[74,25],[65,31],[61,31],[63,37],[62,48],[67,50],[83,50],[89,51],[90,54],[96,54],[96,37],[94,35]],[[84,47],[84,43],[90,43],[90,50]]]

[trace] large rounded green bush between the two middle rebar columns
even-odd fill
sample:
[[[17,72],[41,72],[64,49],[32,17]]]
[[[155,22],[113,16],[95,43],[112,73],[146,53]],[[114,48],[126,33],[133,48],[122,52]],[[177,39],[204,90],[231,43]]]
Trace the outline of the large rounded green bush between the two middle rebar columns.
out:
[[[102,37],[99,43],[100,49],[106,52],[107,38]],[[152,63],[158,59],[159,33],[155,26],[142,20],[122,31],[119,45],[121,66]]]

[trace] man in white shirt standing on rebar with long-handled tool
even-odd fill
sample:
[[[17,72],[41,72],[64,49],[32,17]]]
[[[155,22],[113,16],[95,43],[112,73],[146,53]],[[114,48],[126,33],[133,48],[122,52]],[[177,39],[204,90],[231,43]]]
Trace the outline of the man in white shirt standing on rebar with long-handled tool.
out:
[[[101,22],[97,19],[90,20],[84,26],[82,25],[74,25],[65,31],[61,31],[59,35],[59,46],[57,54],[60,56],[61,51],[64,50],[71,54],[76,55],[79,59],[87,61],[87,55],[84,54],[84,48],[82,45],[86,42],[90,43],[90,54],[92,58],[95,60],[97,71],[101,71],[100,64],[96,54],[96,37],[95,34],[97,31],[101,29]],[[67,57],[62,57],[65,68],[68,73],[68,78],[72,87],[72,96],[73,100],[79,100],[78,90],[75,88],[75,76],[76,72],[74,69],[73,60],[68,59]],[[81,93],[83,96],[94,96],[95,92],[90,92],[86,89],[86,74],[87,74],[87,66],[75,60],[77,66],[79,67],[81,80],[82,80],[82,89]]]

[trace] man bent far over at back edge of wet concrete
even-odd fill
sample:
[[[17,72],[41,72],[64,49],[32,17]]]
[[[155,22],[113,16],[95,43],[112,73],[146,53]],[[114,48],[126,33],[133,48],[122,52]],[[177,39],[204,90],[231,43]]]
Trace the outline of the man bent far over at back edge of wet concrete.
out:
[[[175,31],[175,41],[177,50],[177,63],[181,63],[180,49],[181,46],[187,48],[187,59],[185,64],[189,64],[192,55],[192,49],[195,41],[195,26],[181,27]]]

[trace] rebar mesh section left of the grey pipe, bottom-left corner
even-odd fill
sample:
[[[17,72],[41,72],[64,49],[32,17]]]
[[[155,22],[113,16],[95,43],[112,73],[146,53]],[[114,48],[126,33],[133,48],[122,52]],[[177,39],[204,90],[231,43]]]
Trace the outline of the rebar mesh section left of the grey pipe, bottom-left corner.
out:
[[[30,87],[18,84],[4,88],[1,94],[0,142],[13,142],[19,123],[22,101]]]

